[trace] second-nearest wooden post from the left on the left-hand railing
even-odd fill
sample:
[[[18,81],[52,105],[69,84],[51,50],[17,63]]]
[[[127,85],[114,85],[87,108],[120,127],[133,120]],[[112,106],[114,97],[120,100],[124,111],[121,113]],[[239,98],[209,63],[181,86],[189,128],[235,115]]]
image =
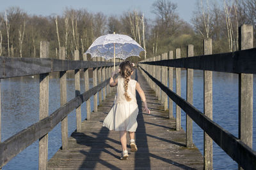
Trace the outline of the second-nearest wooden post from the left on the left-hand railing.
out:
[[[60,48],[60,59],[65,60],[65,47]],[[60,71],[60,106],[67,103],[67,73]],[[61,120],[61,141],[62,150],[67,149],[68,146],[68,117]]]

